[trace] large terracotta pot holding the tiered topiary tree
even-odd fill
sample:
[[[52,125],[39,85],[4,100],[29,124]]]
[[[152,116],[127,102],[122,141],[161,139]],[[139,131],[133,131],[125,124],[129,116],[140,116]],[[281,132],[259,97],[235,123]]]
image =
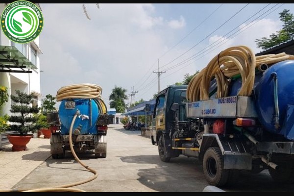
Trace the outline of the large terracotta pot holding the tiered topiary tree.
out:
[[[12,151],[23,151],[26,149],[26,144],[32,138],[31,135],[20,136],[17,134],[7,135],[8,141],[12,144]]]

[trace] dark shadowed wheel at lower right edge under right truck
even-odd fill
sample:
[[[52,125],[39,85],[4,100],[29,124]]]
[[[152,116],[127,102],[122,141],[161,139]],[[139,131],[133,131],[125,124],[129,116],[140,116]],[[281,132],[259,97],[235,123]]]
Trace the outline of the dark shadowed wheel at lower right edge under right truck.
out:
[[[293,184],[294,183],[294,163],[279,164],[279,168],[274,170],[269,168],[271,178],[280,184]]]

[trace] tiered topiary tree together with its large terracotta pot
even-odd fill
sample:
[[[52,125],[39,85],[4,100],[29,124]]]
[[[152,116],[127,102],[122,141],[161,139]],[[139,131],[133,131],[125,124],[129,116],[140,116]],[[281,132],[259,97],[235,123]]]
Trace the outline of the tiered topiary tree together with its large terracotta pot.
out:
[[[32,95],[16,90],[16,96],[11,95],[11,100],[14,104],[11,105],[10,112],[18,115],[9,117],[8,130],[18,132],[18,134],[9,134],[7,138],[12,144],[12,151],[23,151],[26,149],[26,144],[32,138],[32,134],[39,127],[36,125],[37,118],[32,114],[39,112],[38,106],[30,106]]]

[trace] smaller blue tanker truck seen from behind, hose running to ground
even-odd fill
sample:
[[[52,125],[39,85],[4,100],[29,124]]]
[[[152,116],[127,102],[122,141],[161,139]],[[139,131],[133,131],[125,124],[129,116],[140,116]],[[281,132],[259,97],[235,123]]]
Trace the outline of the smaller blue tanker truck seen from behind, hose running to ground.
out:
[[[101,93],[101,87],[88,83],[58,90],[59,110],[47,115],[52,130],[50,152],[53,159],[64,158],[65,152],[72,149],[76,153],[92,151],[96,158],[106,157],[109,119]]]

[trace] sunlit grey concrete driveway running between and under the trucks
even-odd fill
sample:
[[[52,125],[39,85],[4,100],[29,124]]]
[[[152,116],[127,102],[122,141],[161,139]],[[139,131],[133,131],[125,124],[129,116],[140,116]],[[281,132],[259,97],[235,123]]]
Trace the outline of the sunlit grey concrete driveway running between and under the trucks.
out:
[[[79,159],[98,172],[98,177],[71,188],[86,192],[202,192],[208,186],[202,165],[196,158],[179,156],[170,163],[160,161],[156,146],[140,131],[123,129],[123,125],[109,125],[107,157],[77,154]],[[13,188],[36,189],[85,181],[94,176],[67,151],[65,158],[45,162],[25,176]],[[259,174],[242,173],[235,186],[227,192],[293,192],[293,185],[273,182],[267,171]]]

